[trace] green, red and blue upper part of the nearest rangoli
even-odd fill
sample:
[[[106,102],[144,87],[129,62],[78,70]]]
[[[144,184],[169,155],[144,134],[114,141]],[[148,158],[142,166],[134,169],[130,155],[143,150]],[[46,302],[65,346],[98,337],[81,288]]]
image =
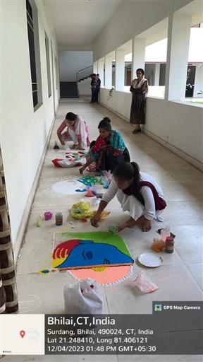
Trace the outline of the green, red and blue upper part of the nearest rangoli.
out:
[[[54,235],[52,255],[54,269],[109,268],[129,266],[133,262],[125,242],[118,235],[107,232]]]

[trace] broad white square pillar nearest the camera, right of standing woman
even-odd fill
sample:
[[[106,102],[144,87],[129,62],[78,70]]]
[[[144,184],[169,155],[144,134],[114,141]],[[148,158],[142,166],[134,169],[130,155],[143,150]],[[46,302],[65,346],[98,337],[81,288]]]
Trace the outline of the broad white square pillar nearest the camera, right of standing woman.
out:
[[[191,15],[175,13],[168,18],[165,100],[183,100],[187,77]]]

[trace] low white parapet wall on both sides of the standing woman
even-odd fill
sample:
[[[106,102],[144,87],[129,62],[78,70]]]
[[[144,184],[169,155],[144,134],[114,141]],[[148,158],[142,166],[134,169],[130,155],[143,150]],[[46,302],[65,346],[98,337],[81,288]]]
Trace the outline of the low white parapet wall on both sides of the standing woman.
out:
[[[101,88],[100,103],[118,112],[121,118],[123,116],[123,119],[129,122],[131,94],[114,90],[112,98],[107,100],[108,95],[109,90]],[[201,107],[147,97],[144,130],[159,138],[159,141],[172,151],[182,152],[181,156],[185,156],[190,162],[193,158],[193,164],[197,167],[203,167]],[[191,159],[187,156],[190,156]]]

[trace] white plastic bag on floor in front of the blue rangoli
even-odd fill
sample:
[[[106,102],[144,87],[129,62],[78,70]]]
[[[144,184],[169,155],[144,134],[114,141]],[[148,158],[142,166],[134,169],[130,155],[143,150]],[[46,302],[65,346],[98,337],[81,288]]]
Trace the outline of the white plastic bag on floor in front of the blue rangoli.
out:
[[[64,286],[63,296],[68,314],[102,314],[103,298],[97,282],[92,279]]]

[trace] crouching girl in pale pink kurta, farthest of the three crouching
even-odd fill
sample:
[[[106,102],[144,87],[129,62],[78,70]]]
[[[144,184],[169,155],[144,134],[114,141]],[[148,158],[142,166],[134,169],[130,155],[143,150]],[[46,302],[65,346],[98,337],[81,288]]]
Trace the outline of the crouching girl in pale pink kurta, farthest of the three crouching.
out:
[[[66,132],[63,132],[63,129],[66,129]],[[84,150],[87,146],[90,146],[89,128],[84,119],[75,115],[75,113],[67,113],[66,118],[57,129],[57,135],[62,145],[65,144],[65,141],[72,139],[73,147],[71,148],[73,149]]]

